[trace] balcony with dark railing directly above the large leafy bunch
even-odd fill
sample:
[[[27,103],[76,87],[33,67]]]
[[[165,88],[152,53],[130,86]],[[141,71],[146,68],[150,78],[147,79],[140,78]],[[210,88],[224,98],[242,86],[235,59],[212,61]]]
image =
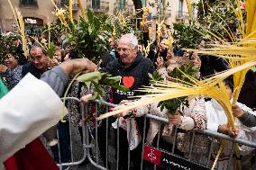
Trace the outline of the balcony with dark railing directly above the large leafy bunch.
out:
[[[105,13],[109,11],[109,2],[87,0],[87,8],[94,12]]]

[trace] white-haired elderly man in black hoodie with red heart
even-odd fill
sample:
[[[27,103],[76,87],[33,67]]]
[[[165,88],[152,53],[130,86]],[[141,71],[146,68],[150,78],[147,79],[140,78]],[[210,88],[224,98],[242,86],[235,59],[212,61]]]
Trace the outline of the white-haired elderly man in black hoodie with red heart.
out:
[[[111,61],[101,71],[109,72],[113,76],[122,76],[119,85],[127,87],[127,91],[114,90],[113,98],[114,103],[119,104],[121,101],[126,100],[128,96],[138,95],[136,92],[142,85],[149,85],[150,78],[149,73],[154,72],[154,65],[149,58],[144,58],[141,53],[138,52],[138,40],[132,34],[123,35],[117,42],[117,51],[119,58]],[[139,131],[142,135],[143,132],[143,118],[135,118]],[[117,138],[116,138],[117,139]],[[128,165],[128,153],[129,148],[127,141],[127,132],[120,129],[120,150],[119,150],[119,167],[120,169],[127,169]],[[133,167],[140,167],[142,154],[142,143],[131,151],[131,161]]]

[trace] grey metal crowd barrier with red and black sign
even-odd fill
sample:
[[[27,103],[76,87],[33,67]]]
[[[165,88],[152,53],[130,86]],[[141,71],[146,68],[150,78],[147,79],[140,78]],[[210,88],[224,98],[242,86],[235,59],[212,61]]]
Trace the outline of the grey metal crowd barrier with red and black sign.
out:
[[[85,104],[80,103],[80,100],[78,98],[74,98],[74,97],[69,97],[67,98],[67,100],[75,100],[76,102],[78,102],[80,104],[80,111],[81,111],[81,115],[82,117],[86,117],[87,115],[90,115],[90,113],[87,110],[87,107]],[[97,117],[97,107],[98,105],[102,105],[104,104],[107,107],[115,107],[115,105],[113,103],[106,103],[105,101],[99,101],[96,100],[94,101],[96,103],[96,117]],[[68,110],[69,110],[69,104],[68,104]],[[108,109],[106,109],[106,112],[108,111]],[[69,115],[70,118],[70,115]],[[145,141],[146,138],[146,121],[149,121],[149,119],[153,119],[156,121],[159,121],[160,123],[160,128],[161,125],[164,123],[167,123],[168,120],[156,115],[152,115],[152,114],[146,114],[146,116],[144,116],[144,127],[143,127],[143,134],[142,134],[142,141]],[[81,164],[83,161],[85,161],[86,159],[88,159],[89,163],[91,164],[91,166],[94,166],[98,169],[102,169],[102,170],[106,170],[106,169],[120,169],[120,167],[118,166],[118,163],[120,161],[120,141],[119,141],[119,128],[117,128],[117,143],[116,146],[114,146],[114,144],[111,144],[111,142],[109,142],[109,133],[110,136],[113,136],[113,131],[110,131],[111,129],[111,124],[109,122],[109,119],[107,118],[105,120],[105,157],[103,160],[103,157],[100,157],[100,149],[99,149],[99,137],[98,137],[98,122],[89,122],[87,121],[85,123],[85,125],[82,127],[82,134],[83,134],[83,145],[82,148],[80,148],[83,152],[83,156],[81,158],[79,158],[78,160],[75,160],[74,156],[73,156],[73,145],[72,145],[72,139],[70,138],[70,152],[71,152],[71,160],[69,163],[59,163],[58,166],[61,169],[63,166],[77,166],[79,164]],[[92,132],[92,130],[90,130],[89,128],[89,123],[95,123],[95,130],[94,132]],[[69,123],[69,133],[72,134],[72,130],[71,130],[71,123]],[[119,124],[117,123],[117,126],[119,127]],[[131,130],[130,130],[131,131]],[[159,129],[159,131],[161,131]],[[200,133],[204,136],[209,137],[211,140],[211,144],[210,144],[210,150],[208,153],[208,156],[206,157],[206,164],[202,165],[199,164],[193,160],[191,160],[191,156],[192,156],[192,149],[194,145],[197,145],[194,143],[195,140],[195,134]],[[192,169],[210,169],[211,168],[211,164],[210,164],[210,160],[211,160],[211,156],[212,156],[212,152],[213,152],[213,141],[214,139],[225,139],[231,142],[231,150],[230,150],[230,157],[228,159],[229,161],[229,166],[226,169],[231,169],[231,164],[232,164],[232,159],[233,159],[233,150],[234,150],[234,143],[238,143],[239,145],[244,145],[244,146],[248,146],[251,148],[256,148],[256,143],[255,142],[251,142],[251,141],[247,141],[244,139],[233,139],[230,138],[227,135],[221,134],[221,133],[216,133],[213,132],[211,130],[200,130],[197,132],[193,132],[192,133],[192,139],[190,141],[190,145],[189,145],[189,153],[188,153],[188,157],[182,157],[179,155],[176,155],[175,153],[175,149],[176,149],[176,142],[177,142],[177,134],[178,134],[178,129],[175,129],[174,131],[174,136],[173,136],[173,143],[172,143],[172,148],[170,150],[162,150],[161,146],[160,146],[160,133],[158,133],[156,135],[157,138],[157,143],[155,146],[149,146],[147,145],[145,142],[142,142],[142,157],[141,157],[141,167],[133,167],[133,169],[186,169],[186,170],[192,170]],[[129,134],[130,137],[131,134]],[[72,136],[72,135],[71,135]],[[94,138],[94,139],[93,139]],[[102,138],[102,137],[101,137]],[[130,139],[130,138],[128,138]],[[130,141],[129,141],[130,142]],[[59,145],[59,144],[58,144]],[[110,152],[109,152],[109,148],[115,148],[116,147],[116,153],[115,156],[116,157],[110,157]],[[130,154],[130,148],[127,148],[128,150],[128,160],[127,160],[127,168],[125,167],[125,169],[131,169],[132,165],[131,165],[131,157],[133,157]],[[59,151],[60,153],[60,151]],[[113,153],[112,153],[113,154]],[[122,153],[121,153],[122,154]],[[155,155],[154,155],[155,154]],[[150,160],[149,157],[150,156]],[[154,160],[151,160],[154,159]],[[112,162],[110,161],[110,159],[112,160]],[[60,158],[59,158],[60,160]],[[114,162],[113,162],[114,160]],[[157,160],[157,161],[156,161]],[[104,162],[104,164],[102,163]],[[111,166],[111,168],[109,167]],[[146,166],[146,168],[145,168]],[[218,169],[218,166],[216,166],[216,169]]]

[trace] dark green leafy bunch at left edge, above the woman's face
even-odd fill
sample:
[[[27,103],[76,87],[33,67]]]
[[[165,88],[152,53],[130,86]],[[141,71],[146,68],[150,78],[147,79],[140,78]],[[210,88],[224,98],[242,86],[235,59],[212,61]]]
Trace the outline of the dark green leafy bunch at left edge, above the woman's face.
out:
[[[14,40],[16,38],[15,34],[3,35],[0,34],[0,63],[4,63],[5,55],[16,49],[14,45]]]

